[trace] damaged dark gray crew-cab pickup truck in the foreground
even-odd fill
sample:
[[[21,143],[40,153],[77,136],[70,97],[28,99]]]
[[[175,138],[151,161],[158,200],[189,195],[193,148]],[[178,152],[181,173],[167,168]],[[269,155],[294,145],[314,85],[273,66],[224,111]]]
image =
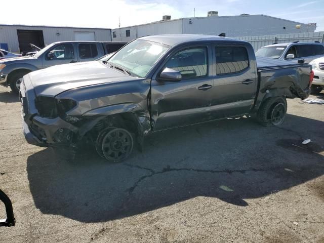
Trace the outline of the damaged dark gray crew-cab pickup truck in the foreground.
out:
[[[309,96],[312,69],[267,58],[252,46],[211,35],[153,35],[112,57],[31,72],[20,89],[30,144],[71,148],[92,143],[120,161],[145,135],[257,113],[280,125],[286,98]]]

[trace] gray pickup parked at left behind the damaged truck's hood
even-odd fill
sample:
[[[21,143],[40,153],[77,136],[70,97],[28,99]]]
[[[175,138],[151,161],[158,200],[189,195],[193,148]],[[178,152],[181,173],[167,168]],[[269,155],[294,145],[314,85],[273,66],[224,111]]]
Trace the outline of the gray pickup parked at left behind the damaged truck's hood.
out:
[[[32,57],[0,61],[0,85],[18,94],[23,75],[54,65],[93,61],[125,46],[125,42],[56,42]]]

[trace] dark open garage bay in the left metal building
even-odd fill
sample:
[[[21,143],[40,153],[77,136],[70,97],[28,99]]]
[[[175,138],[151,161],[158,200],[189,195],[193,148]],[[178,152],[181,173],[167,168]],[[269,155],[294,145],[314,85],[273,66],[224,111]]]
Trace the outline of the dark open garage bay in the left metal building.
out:
[[[17,34],[19,50],[23,55],[32,51],[32,47],[29,45],[30,43],[39,48],[44,48],[43,30],[17,29]]]

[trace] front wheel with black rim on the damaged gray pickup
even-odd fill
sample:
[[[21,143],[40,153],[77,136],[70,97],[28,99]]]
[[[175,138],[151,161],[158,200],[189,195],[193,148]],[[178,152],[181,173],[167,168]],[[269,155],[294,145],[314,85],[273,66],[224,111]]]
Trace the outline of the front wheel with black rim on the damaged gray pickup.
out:
[[[123,128],[105,129],[96,141],[98,154],[113,163],[126,159],[132,153],[133,146],[131,133]]]

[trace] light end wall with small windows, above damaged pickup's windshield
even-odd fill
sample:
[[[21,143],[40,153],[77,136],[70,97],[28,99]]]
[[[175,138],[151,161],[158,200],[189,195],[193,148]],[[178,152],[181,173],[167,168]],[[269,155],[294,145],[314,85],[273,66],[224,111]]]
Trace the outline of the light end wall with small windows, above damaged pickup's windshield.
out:
[[[126,30],[130,30],[130,36],[126,36]],[[130,27],[113,29],[116,37],[112,35],[113,42],[130,42],[133,39],[153,34],[180,34],[182,33],[182,19],[156,22]]]

